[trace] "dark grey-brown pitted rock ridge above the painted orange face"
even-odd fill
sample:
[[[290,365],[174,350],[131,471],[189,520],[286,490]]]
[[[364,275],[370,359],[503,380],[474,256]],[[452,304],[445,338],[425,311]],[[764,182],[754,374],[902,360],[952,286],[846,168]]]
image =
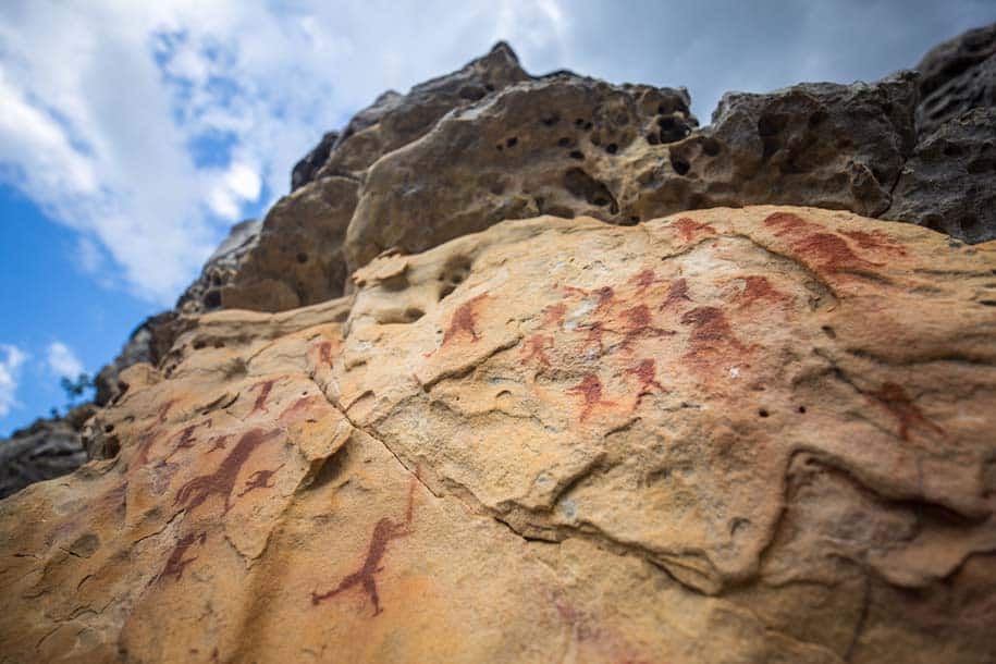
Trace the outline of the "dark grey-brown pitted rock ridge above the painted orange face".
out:
[[[530,76],[500,44],[408,95],[386,93],[327,134],[295,168],[294,193],[268,216],[222,306],[278,311],[339,297],[346,275],[381,251],[423,251],[544,213],[630,225],[680,210],[789,204],[992,239],[992,170],[973,169],[991,151],[983,135],[993,127],[987,115],[963,113],[993,104],[994,34],[942,45],[919,83],[905,72],[730,93],[705,127],[684,88]],[[937,132],[967,145],[938,153]]]

